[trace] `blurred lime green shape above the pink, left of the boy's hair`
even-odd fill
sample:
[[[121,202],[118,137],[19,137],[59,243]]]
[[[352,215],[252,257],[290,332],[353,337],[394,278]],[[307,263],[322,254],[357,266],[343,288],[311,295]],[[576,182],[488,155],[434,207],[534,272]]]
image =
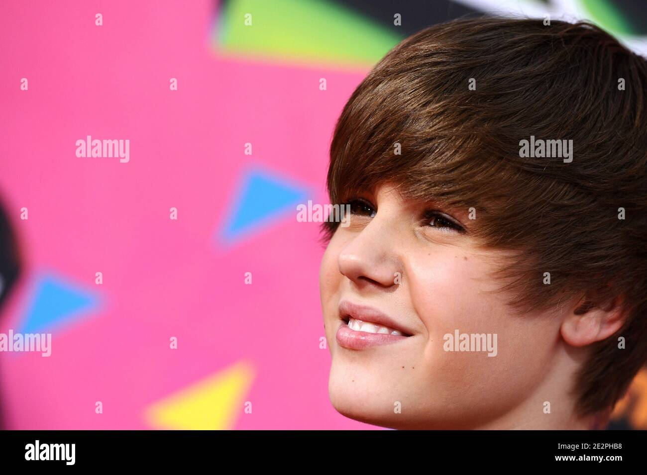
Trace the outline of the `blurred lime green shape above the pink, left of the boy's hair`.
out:
[[[252,25],[245,26],[245,14]],[[373,65],[400,38],[322,0],[230,0],[221,10],[221,50],[287,61]]]

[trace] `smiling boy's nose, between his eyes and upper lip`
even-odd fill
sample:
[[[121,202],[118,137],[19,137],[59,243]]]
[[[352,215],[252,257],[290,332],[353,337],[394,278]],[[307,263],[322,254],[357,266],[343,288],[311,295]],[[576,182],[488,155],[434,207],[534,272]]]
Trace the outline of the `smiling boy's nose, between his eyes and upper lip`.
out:
[[[388,222],[376,215],[340,252],[339,271],[359,288],[395,286],[402,266]]]

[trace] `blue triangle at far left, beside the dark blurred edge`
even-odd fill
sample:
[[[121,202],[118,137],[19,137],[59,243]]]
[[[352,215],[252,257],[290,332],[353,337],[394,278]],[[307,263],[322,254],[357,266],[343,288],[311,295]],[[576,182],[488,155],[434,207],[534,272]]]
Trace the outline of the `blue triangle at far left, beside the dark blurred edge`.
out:
[[[36,282],[36,293],[23,318],[20,332],[51,330],[82,316],[96,306],[97,300],[96,296],[73,284],[53,275],[44,275]]]

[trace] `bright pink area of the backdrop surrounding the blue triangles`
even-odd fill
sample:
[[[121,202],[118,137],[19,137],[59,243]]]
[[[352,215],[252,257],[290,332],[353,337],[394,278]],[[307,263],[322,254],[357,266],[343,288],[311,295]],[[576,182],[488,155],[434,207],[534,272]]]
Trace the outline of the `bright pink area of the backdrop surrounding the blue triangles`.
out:
[[[8,428],[164,427],[146,418],[151,405],[241,362],[250,385],[214,428],[369,428],[328,399],[319,224],[296,222],[294,211],[230,244],[215,238],[252,169],[326,202],[334,121],[367,71],[225,59],[212,46],[208,0],[3,10],[0,196],[25,269],[0,332],[24,324],[42,275],[98,302],[52,328],[51,357],[1,355]],[[76,157],[87,135],[129,139],[130,162]]]

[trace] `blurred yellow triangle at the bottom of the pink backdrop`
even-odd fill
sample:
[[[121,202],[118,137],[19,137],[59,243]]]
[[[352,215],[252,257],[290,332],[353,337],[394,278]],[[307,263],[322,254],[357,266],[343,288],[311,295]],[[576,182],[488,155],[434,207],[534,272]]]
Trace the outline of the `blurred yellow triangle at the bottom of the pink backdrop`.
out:
[[[232,429],[253,379],[251,364],[232,364],[149,406],[146,419],[162,429]]]

